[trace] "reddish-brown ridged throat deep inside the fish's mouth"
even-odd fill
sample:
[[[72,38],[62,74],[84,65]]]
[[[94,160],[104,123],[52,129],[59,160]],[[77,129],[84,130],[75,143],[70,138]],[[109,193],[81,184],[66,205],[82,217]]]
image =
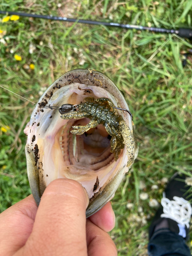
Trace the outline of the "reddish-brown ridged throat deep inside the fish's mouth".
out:
[[[95,175],[96,171],[106,167],[114,160],[114,155],[111,153],[111,136],[106,132],[103,125],[98,125],[83,135],[70,133],[73,130],[71,128],[73,125],[86,125],[89,122],[90,119],[88,118],[82,118],[78,121],[72,119],[61,128],[61,132],[58,132],[62,159],[68,169],[65,176],[72,174],[71,178],[74,178],[73,175],[86,175],[87,173],[90,176],[92,171]],[[99,175],[99,172],[97,174]],[[93,186],[91,187],[93,188]],[[91,191],[88,194],[93,196]]]

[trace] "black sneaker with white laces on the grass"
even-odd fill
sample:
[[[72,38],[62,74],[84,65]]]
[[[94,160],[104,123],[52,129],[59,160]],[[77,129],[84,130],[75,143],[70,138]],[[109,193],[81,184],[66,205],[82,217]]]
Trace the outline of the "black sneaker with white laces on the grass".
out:
[[[159,229],[170,229],[185,240],[188,239],[189,222],[192,215],[192,186],[185,183],[186,176],[176,173],[168,182],[161,206],[149,229],[149,237]],[[189,202],[190,200],[190,202]]]

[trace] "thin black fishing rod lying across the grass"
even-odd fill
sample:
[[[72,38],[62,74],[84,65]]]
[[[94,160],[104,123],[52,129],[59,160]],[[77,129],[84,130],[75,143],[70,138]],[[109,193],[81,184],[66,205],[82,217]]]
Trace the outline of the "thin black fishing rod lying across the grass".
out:
[[[97,22],[96,20],[75,19],[75,18],[58,17],[58,16],[52,16],[52,15],[48,16],[48,15],[38,15],[38,14],[10,12],[10,11],[0,11],[0,14],[18,15],[20,17],[51,19],[51,20],[59,20],[61,22],[82,23],[82,24],[89,24],[89,25],[103,25],[103,26],[118,27],[123,29],[147,30],[155,33],[176,34],[182,38],[188,38],[192,40],[192,29],[189,29],[189,28],[178,28],[178,29],[164,29],[164,28],[153,28],[153,27],[150,28],[150,27],[130,25],[130,24],[119,24],[114,22],[110,22],[110,23]]]

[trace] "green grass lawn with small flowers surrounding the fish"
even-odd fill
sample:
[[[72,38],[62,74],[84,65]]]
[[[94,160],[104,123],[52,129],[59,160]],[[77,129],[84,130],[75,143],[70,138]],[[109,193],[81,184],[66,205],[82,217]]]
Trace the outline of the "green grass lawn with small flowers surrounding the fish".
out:
[[[2,0],[1,9],[171,28],[192,26],[191,5],[190,0]],[[99,70],[124,91],[140,151],[113,199],[116,227],[111,236],[119,255],[147,255],[146,222],[156,211],[150,199],[160,202],[163,177],[169,179],[176,171],[191,176],[192,62],[183,68],[180,54],[190,42],[176,35],[32,18],[0,23],[0,29],[6,31],[0,34],[5,40],[0,45],[0,79],[10,91],[37,102],[54,80],[76,68]],[[1,212],[30,194],[23,129],[34,104],[2,88],[0,92],[0,126],[7,130],[0,130]],[[154,184],[158,189],[151,188]],[[140,199],[142,192],[148,199]],[[126,208],[128,202],[132,209]]]

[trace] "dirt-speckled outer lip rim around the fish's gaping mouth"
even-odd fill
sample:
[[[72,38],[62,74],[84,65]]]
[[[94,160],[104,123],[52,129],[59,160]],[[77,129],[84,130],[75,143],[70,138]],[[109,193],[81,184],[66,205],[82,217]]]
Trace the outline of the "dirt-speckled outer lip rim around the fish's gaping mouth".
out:
[[[107,77],[106,75],[102,74],[101,72],[98,71],[90,71],[90,70],[84,70],[84,69],[76,69],[67,72],[66,74],[62,75],[59,77],[49,88],[48,90],[44,93],[44,95],[41,96],[40,100],[36,105],[32,116],[41,116],[43,113],[41,111],[44,111],[43,106],[48,103],[50,99],[52,99],[53,95],[55,92],[59,92],[59,90],[62,87],[69,86],[70,84],[78,82],[81,84],[94,84],[94,86],[98,88],[102,88],[105,91],[109,92],[112,94],[115,98],[118,98],[119,105],[121,108],[124,109],[129,109],[125,100],[124,96],[122,93],[119,91],[119,89],[115,86],[114,82]],[[55,87],[55,88],[54,88]],[[80,90],[80,89],[79,89]],[[37,114],[36,114],[37,113]],[[128,113],[122,113],[120,114],[123,116],[124,120],[129,121],[130,125],[132,125],[132,120],[130,119],[130,116]],[[38,118],[36,118],[38,119]],[[35,119],[31,118],[30,124],[26,126],[27,128],[25,129],[25,133],[28,134],[28,142],[26,145],[26,157],[27,157],[27,167],[29,169],[33,169],[33,172],[28,171],[28,178],[30,181],[30,187],[32,190],[32,194],[34,196],[34,199],[39,205],[40,198],[42,196],[43,191],[46,188],[46,185],[39,180],[39,175],[38,175],[38,166],[37,166],[37,161],[38,161],[38,156],[36,156],[35,159],[35,154],[34,154],[34,147],[35,147],[35,140],[30,143],[31,140],[31,134],[30,134],[30,129],[33,127]],[[45,127],[45,131],[46,127]],[[38,154],[37,154],[38,155]],[[115,175],[113,180],[106,185],[106,191],[98,191],[95,194],[96,199],[90,199],[90,203],[88,205],[87,211],[86,211],[86,216],[87,218],[90,217],[92,214],[94,214],[96,211],[98,211],[106,202],[108,202],[111,198],[111,196],[115,193],[117,187],[120,184],[120,181],[122,180],[122,177],[124,173],[127,172],[127,167],[124,165],[119,172]],[[110,191],[110,193],[109,193]],[[100,200],[100,202],[99,202]]]

